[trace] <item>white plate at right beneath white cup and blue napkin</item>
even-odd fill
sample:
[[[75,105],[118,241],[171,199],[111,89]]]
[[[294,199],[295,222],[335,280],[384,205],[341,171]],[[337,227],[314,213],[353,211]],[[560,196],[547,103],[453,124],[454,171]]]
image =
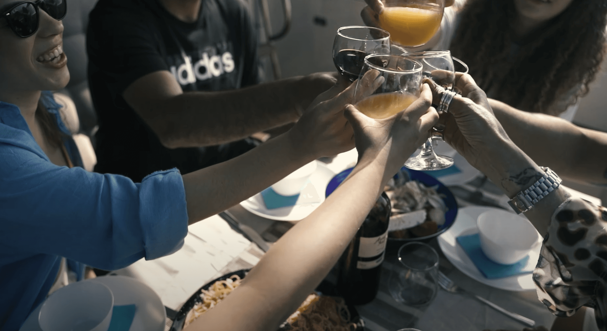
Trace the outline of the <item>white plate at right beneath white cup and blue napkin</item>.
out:
[[[481,213],[488,210],[496,210],[492,207],[464,207],[458,209],[455,223],[445,233],[438,237],[438,244],[441,246],[441,250],[447,259],[455,266],[459,271],[465,273],[470,278],[479,281],[480,283],[486,284],[496,289],[502,289],[507,291],[534,291],[535,284],[533,283],[532,273],[525,273],[524,275],[511,276],[500,279],[487,279],[483,274],[476,269],[476,266],[470,260],[466,252],[459,246],[456,241],[458,236],[472,235],[478,233],[476,227],[476,218]],[[542,238],[538,233],[538,241],[541,243]],[[532,272],[537,265],[537,260],[540,258],[541,245],[538,245],[537,249],[532,250],[529,253],[529,260],[525,270]]]

